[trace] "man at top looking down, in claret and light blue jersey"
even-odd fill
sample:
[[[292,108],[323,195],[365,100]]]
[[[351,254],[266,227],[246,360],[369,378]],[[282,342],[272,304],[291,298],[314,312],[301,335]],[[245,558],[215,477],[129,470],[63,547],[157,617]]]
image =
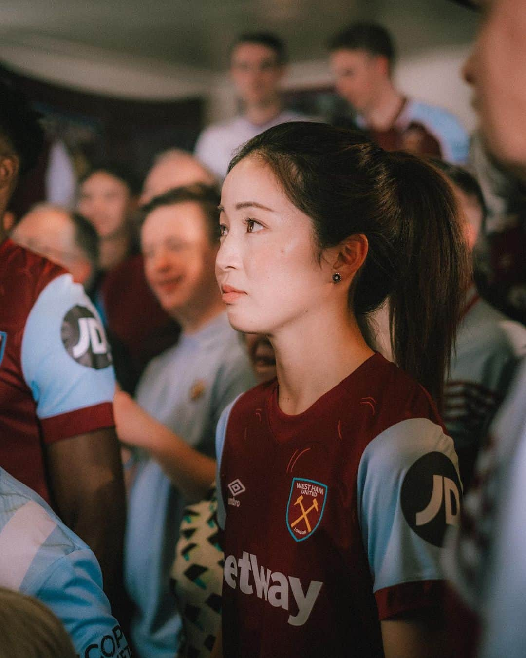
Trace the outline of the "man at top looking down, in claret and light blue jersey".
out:
[[[378,24],[360,22],[329,39],[336,89],[356,124],[387,151],[404,149],[453,163],[467,160],[469,139],[450,112],[407,98],[393,82],[395,45]]]

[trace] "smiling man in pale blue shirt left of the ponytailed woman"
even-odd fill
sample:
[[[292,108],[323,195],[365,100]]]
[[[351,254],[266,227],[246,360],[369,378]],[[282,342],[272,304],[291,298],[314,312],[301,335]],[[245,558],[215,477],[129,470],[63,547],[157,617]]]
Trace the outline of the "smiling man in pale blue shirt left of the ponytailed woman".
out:
[[[114,399],[120,440],[146,455],[131,486],[125,550],[126,586],[137,606],[131,638],[141,658],[173,658],[178,650],[170,569],[183,509],[203,499],[214,479],[220,414],[254,384],[214,276],[218,201],[215,188],[196,185],[142,210],[146,278],[182,333],[145,369],[137,401],[122,392]]]

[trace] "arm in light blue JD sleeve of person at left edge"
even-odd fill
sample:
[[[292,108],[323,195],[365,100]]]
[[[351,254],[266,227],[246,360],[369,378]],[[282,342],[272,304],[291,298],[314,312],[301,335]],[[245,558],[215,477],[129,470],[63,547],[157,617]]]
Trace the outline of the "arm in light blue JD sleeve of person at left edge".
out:
[[[21,364],[55,508],[97,554],[117,605],[126,501],[112,412],[115,377],[97,311],[70,275],[57,276],[37,297]]]

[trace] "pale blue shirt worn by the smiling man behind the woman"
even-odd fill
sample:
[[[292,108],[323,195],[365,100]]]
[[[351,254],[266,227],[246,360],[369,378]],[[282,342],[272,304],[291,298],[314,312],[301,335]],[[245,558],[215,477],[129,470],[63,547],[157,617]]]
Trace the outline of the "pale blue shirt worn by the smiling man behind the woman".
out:
[[[214,457],[221,412],[254,384],[239,335],[221,313],[151,361],[137,402],[191,447]],[[141,658],[174,658],[178,648],[181,619],[170,570],[186,504],[154,459],[139,465],[130,493],[124,572],[137,605],[131,636]]]

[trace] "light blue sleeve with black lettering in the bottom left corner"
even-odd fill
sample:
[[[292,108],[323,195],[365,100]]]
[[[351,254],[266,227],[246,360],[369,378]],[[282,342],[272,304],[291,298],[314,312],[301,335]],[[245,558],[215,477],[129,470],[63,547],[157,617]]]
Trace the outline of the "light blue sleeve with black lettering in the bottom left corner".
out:
[[[60,619],[82,658],[131,655],[102,590],[101,569],[89,549],[60,557],[42,576],[34,595]]]

